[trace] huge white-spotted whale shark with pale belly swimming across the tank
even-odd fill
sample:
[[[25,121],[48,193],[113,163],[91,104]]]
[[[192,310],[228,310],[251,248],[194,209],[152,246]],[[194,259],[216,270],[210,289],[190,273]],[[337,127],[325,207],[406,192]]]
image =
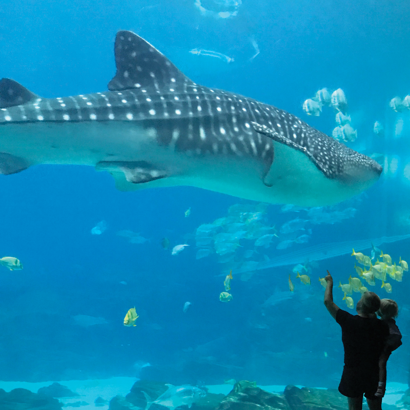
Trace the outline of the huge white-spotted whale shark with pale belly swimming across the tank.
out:
[[[298,117],[196,84],[131,31],[119,31],[108,90],[43,98],[0,80],[0,173],[40,164],[106,171],[121,191],[192,186],[324,206],[371,187],[382,168]]]

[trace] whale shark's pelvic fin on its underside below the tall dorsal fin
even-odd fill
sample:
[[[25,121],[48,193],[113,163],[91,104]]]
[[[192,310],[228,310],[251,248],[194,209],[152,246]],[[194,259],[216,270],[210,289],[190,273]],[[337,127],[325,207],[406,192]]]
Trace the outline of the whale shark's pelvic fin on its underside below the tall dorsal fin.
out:
[[[142,184],[168,176],[167,172],[146,161],[101,161],[95,169],[110,172],[115,178],[115,187],[120,191],[134,191],[137,188],[131,184]]]

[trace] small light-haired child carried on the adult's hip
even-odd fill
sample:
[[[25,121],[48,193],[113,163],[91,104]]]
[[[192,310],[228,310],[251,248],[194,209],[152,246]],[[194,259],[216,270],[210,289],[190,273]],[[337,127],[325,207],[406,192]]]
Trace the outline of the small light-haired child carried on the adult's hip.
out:
[[[395,317],[399,314],[397,303],[392,299],[382,299],[380,309],[377,312],[380,319],[388,324],[390,335],[387,338],[386,346],[379,358],[379,387],[375,394],[376,397],[383,397],[386,391],[386,364],[389,356],[397,347],[401,346],[401,333],[396,325]]]

